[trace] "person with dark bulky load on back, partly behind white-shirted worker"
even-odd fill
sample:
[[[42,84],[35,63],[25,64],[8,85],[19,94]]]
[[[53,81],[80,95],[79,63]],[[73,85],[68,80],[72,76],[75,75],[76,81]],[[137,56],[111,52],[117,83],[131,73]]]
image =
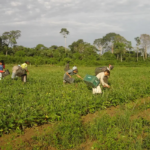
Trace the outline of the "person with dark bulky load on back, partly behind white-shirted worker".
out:
[[[101,73],[101,72],[104,72],[104,71],[106,71],[106,70],[112,70],[114,68],[114,66],[112,66],[112,65],[109,65],[109,67],[107,67],[107,66],[104,66],[104,67],[97,67],[96,69],[95,69],[95,76],[97,75],[97,74],[99,74],[99,73]],[[105,81],[105,83],[107,83],[108,84],[108,76],[104,76],[104,81]]]

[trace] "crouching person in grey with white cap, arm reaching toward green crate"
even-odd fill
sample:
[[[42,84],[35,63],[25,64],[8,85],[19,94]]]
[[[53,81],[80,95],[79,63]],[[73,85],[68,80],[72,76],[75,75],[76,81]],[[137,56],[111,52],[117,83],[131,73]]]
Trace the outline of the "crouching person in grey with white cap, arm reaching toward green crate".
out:
[[[73,83],[74,79],[71,77],[72,75],[76,75],[78,78],[82,79],[78,74],[78,69],[76,66],[74,66],[71,70],[68,70],[64,74],[63,83]]]

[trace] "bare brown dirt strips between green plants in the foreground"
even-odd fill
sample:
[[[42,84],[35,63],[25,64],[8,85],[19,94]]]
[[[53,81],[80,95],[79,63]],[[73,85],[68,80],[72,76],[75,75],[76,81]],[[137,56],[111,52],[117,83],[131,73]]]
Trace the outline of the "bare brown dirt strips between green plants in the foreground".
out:
[[[93,121],[95,118],[102,117],[105,114],[108,114],[111,117],[113,117],[115,115],[123,114],[126,108],[135,110],[136,108],[138,108],[138,106],[140,106],[141,104],[145,104],[147,102],[150,102],[150,97],[142,98],[135,102],[125,104],[123,106],[110,107],[105,110],[97,111],[93,114],[87,114],[86,116],[82,116],[81,119],[83,121],[83,124],[86,124]],[[131,116],[131,119],[137,119],[139,117],[143,117],[147,120],[150,120],[150,109],[133,114]],[[30,144],[33,142],[32,137],[45,135],[47,132],[51,132],[54,127],[55,124],[45,124],[33,128],[27,128],[25,129],[22,135],[19,135],[17,133],[4,134],[2,137],[0,137],[0,150],[5,149],[5,146],[8,146],[9,144],[14,146],[13,149],[30,150],[32,149],[30,146]],[[93,141],[87,140],[85,143],[81,144],[78,148],[75,148],[73,150],[91,150],[93,143],[94,143]],[[22,147],[20,148],[21,145]],[[48,147],[48,149],[56,150],[55,148],[52,147]]]

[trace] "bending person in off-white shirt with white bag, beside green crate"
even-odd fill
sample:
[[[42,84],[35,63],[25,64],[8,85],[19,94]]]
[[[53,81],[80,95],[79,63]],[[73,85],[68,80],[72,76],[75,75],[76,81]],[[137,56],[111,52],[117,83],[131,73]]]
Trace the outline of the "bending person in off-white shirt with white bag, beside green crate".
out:
[[[104,77],[108,77],[108,76],[110,76],[110,71],[109,70],[105,70],[104,72],[101,72],[101,73],[97,74],[96,77],[100,80],[100,84],[102,84],[103,87],[110,88],[110,86],[104,81]],[[101,94],[102,93],[100,84],[96,88],[92,89],[93,90],[93,94]]]

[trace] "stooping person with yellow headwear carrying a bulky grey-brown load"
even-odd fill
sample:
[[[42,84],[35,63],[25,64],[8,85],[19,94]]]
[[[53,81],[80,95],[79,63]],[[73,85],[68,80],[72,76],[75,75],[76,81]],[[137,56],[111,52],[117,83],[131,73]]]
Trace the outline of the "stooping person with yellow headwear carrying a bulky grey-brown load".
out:
[[[12,68],[12,79],[15,79],[17,76],[21,77],[21,80],[23,82],[27,82],[27,73],[29,74],[29,71],[27,69],[27,66],[29,64],[29,61],[25,61],[21,66],[14,66]]]

